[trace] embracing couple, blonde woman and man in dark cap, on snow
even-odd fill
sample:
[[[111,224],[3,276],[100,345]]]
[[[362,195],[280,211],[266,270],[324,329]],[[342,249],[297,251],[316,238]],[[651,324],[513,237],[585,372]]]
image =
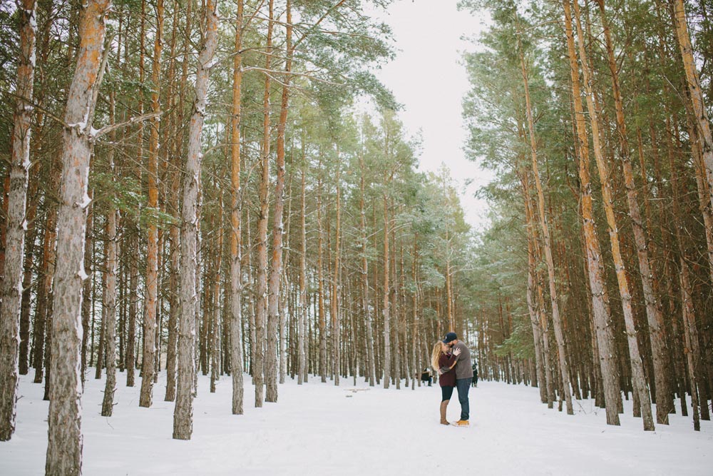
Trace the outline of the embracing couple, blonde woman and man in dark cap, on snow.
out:
[[[453,388],[458,389],[458,401],[461,402],[461,419],[453,425],[468,426],[468,389],[473,382],[471,367],[471,351],[456,333],[447,333],[443,341],[436,343],[431,354],[431,365],[438,372],[438,383],[441,385],[441,425],[450,425],[446,420],[446,408],[453,395]]]

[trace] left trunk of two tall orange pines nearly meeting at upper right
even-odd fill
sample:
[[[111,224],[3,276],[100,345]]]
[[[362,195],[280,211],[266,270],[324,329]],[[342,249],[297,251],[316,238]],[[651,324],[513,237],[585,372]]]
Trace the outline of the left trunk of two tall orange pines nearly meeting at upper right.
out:
[[[592,294],[592,309],[595,318],[597,346],[599,348],[600,368],[604,386],[607,424],[619,425],[619,378],[616,363],[613,358],[614,339],[610,327],[610,310],[604,281],[602,253],[595,228],[591,180],[589,174],[589,140],[584,118],[582,96],[580,95],[579,71],[577,54],[572,30],[572,14],[570,1],[563,0],[565,11],[565,32],[567,36],[568,59],[572,76],[572,93],[575,106],[575,124],[577,126],[577,151],[580,156],[579,176],[581,188],[582,219],[584,226],[585,247],[587,255],[590,291]]]

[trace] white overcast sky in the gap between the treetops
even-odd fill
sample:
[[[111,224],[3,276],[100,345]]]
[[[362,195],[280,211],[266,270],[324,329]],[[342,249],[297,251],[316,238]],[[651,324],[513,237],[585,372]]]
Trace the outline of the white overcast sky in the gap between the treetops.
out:
[[[468,11],[458,11],[457,0],[396,0],[386,16],[396,41],[396,59],[376,76],[394,91],[404,105],[399,113],[411,135],[421,131],[421,170],[437,171],[441,163],[461,184],[461,203],[466,220],[476,229],[486,220],[486,203],[473,193],[488,182],[490,173],[481,171],[463,154],[466,131],[461,118],[461,101],[468,90],[461,53],[474,48],[462,36],[476,36],[483,22]],[[464,187],[467,179],[473,182]]]

